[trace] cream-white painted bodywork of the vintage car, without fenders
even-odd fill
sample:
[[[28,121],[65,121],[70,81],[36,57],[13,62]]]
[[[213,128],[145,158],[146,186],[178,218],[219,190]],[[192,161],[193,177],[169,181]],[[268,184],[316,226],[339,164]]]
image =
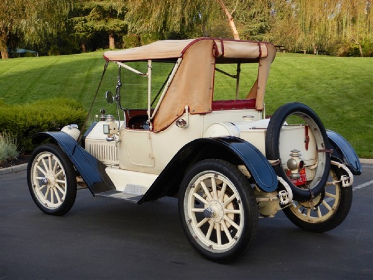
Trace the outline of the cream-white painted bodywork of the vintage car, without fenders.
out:
[[[240,137],[266,155],[265,139],[269,119],[261,119],[261,116],[262,113],[254,109],[198,115],[184,113],[181,118],[188,120],[186,127],[180,128],[174,123],[159,133],[124,128],[121,122],[119,135],[116,136],[117,143],[106,141],[103,124],[107,122],[99,122],[86,138],[85,149],[107,166],[113,167],[106,171],[118,190],[124,190],[129,184],[144,186],[146,191],[185,144],[201,137]],[[313,166],[317,162],[314,155],[316,141],[312,133],[309,136],[309,147],[305,150],[304,126],[285,125],[279,145],[285,169],[291,150],[297,149],[301,151],[301,158],[305,162],[307,177],[312,177]]]

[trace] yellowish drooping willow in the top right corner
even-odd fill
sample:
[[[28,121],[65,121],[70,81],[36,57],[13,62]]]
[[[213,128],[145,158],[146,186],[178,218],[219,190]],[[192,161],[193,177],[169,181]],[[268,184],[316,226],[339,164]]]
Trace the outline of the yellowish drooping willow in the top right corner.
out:
[[[269,40],[292,51],[335,49],[372,41],[372,0],[272,0]]]

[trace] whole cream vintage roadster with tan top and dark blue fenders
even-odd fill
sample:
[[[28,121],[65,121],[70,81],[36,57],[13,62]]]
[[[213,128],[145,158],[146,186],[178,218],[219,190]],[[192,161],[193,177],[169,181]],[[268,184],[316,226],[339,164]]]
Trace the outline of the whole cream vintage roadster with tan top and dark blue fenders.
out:
[[[118,68],[116,91],[106,92],[117,118],[102,109],[84,135],[74,124],[36,134],[40,145],[27,170],[32,199],[41,211],[63,215],[77,182],[95,197],[139,205],[178,197],[186,237],[216,262],[244,255],[258,218],[278,211],[303,230],[332,230],[350,210],[361,164],[302,103],[266,118],[275,56],[271,43],[220,38],[105,52],[104,73],[110,62]],[[164,83],[154,85],[162,75]],[[127,95],[146,103],[129,108]]]

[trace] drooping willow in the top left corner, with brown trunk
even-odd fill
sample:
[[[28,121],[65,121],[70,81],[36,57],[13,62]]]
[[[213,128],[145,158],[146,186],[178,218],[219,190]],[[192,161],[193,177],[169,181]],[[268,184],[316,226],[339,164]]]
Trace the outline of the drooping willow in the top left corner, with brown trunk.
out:
[[[72,0],[1,0],[0,51],[9,57],[9,38],[38,44],[65,28]]]

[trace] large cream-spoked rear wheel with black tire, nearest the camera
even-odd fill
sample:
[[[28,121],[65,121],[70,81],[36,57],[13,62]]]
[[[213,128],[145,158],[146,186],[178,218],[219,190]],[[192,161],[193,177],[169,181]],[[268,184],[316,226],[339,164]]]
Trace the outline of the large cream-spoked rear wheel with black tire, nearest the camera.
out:
[[[230,262],[248,250],[258,209],[248,179],[232,164],[207,159],[185,175],[179,215],[192,246],[206,258]]]

